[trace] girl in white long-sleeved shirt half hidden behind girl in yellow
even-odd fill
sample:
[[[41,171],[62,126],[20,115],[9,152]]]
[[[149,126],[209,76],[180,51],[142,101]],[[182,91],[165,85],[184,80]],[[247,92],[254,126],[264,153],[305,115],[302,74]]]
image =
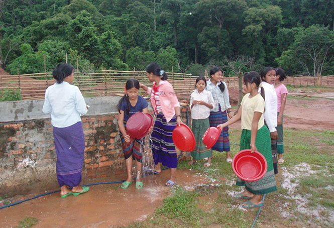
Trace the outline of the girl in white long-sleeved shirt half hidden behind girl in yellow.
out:
[[[272,67],[266,67],[261,74],[262,86],[264,88],[266,108],[263,113],[265,125],[269,129],[271,137],[271,153],[273,157],[273,165],[275,174],[277,169],[277,94],[274,83],[276,81],[276,71]]]

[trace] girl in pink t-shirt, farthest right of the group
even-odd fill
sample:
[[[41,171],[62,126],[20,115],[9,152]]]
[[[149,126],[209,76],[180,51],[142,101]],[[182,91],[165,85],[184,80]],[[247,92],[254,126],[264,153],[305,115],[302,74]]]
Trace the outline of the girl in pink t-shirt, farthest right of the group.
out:
[[[274,84],[276,94],[277,94],[277,154],[278,154],[278,164],[282,164],[283,153],[284,153],[284,143],[283,143],[283,112],[286,103],[286,96],[288,94],[288,89],[283,84],[284,78],[286,78],[285,72],[282,68],[276,68],[276,81]]]

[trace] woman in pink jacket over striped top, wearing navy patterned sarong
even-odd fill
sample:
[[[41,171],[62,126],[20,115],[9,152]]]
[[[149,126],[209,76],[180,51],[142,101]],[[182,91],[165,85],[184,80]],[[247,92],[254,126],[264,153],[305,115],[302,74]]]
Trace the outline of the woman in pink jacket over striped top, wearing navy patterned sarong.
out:
[[[176,125],[180,125],[181,108],[174,93],[173,86],[167,81],[167,74],[159,64],[151,63],[146,67],[147,77],[153,82],[153,87],[140,84],[150,94],[151,104],[156,115],[152,131],[152,154],[155,173],[161,172],[161,164],[170,168],[170,178],[166,186],[176,183],[177,154],[172,138]]]

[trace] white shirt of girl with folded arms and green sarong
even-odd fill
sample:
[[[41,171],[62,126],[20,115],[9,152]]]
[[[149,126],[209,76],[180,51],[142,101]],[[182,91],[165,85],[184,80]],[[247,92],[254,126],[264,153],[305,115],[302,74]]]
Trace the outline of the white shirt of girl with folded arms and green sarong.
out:
[[[205,103],[212,104],[213,109],[215,104],[211,92],[204,89],[201,93],[198,93],[198,90],[195,89],[190,97],[191,118],[194,120],[204,120],[208,118],[211,109],[203,104],[194,104],[194,106],[191,107],[194,100],[202,100]]]

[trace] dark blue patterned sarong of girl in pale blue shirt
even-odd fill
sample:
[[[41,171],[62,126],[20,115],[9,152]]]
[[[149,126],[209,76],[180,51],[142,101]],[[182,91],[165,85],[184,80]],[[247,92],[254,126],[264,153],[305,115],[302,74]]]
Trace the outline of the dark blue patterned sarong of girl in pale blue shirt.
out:
[[[227,111],[221,112],[220,104],[218,111],[210,111],[209,122],[210,127],[217,127],[220,124],[224,124],[228,121]],[[229,138],[229,127],[222,129],[217,142],[211,148],[212,150],[219,152],[229,152],[230,149],[230,138]]]

